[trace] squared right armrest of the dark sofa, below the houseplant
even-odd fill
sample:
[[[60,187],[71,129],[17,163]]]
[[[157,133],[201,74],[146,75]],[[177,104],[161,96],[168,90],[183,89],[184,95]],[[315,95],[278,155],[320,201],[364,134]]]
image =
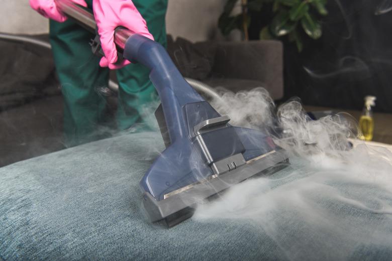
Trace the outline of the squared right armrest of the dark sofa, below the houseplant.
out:
[[[283,46],[280,41],[220,42],[213,77],[256,80],[275,100],[283,97]],[[243,87],[246,90],[246,86]]]

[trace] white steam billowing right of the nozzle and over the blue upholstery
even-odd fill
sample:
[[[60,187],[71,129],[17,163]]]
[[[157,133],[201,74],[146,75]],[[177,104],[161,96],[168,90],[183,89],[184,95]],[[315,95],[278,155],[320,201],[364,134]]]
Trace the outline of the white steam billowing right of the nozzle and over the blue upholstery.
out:
[[[234,125],[265,130],[260,122],[271,123],[274,115],[265,93],[226,93],[223,101],[212,105],[230,115]],[[351,149],[349,138],[358,133],[344,114],[313,121],[293,100],[278,108],[277,118],[283,139],[274,140],[288,151],[290,165],[270,177],[232,187],[219,199],[200,205],[194,218],[255,223],[265,242],[272,240],[289,260],[356,260],[364,255],[388,259],[392,153],[363,143]],[[269,244],[254,247],[268,249]]]

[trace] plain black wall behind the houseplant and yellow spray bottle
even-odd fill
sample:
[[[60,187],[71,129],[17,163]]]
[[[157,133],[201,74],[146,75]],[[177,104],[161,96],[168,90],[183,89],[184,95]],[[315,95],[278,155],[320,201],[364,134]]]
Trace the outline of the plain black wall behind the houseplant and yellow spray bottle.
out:
[[[283,39],[285,99],[361,109],[363,97],[375,95],[375,110],[392,112],[391,8],[392,0],[328,0],[321,39],[306,41],[302,53]],[[258,14],[251,38],[258,38],[271,16]]]

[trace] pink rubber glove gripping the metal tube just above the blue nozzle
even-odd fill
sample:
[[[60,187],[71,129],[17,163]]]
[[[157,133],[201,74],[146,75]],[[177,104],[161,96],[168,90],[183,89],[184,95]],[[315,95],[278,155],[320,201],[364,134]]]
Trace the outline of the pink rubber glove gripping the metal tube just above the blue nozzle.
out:
[[[115,64],[118,59],[114,43],[114,32],[117,27],[126,27],[135,34],[154,40],[147,29],[146,21],[131,0],[93,0],[92,10],[100,35],[101,46],[105,53],[105,57],[102,57],[100,61],[101,67],[119,69],[130,64],[125,59],[121,64]]]

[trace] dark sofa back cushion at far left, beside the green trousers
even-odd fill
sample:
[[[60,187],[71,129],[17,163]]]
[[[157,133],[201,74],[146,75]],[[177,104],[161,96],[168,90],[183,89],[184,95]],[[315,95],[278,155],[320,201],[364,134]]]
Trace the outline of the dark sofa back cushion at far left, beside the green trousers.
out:
[[[0,40],[0,56],[0,111],[60,94],[50,50]]]

